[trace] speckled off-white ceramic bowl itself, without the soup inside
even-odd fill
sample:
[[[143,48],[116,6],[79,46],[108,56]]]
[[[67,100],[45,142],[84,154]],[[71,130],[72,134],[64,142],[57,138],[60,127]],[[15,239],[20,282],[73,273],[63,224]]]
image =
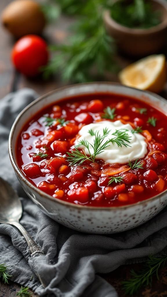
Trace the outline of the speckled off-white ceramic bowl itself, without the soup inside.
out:
[[[120,207],[91,207],[65,202],[34,187],[18,168],[16,141],[23,125],[36,112],[61,99],[79,94],[109,92],[136,97],[150,103],[167,115],[167,101],[151,92],[122,86],[118,83],[86,83],[66,86],[40,97],[29,104],[15,120],[9,136],[9,154],[16,176],[21,186],[42,211],[56,222],[69,228],[88,233],[115,233],[143,224],[167,205],[167,190],[148,200]]]

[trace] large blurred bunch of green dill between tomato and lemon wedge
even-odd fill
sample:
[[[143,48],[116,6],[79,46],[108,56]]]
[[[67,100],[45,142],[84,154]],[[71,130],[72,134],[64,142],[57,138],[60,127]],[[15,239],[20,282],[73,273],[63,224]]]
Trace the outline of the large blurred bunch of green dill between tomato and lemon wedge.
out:
[[[75,8],[76,5],[75,1]],[[43,68],[46,78],[60,72],[64,81],[87,82],[103,78],[106,71],[118,70],[114,60],[115,42],[106,33],[103,22],[105,2],[88,0],[81,6],[80,11],[75,9],[80,18],[71,29],[73,34],[65,44],[50,47],[55,55]]]

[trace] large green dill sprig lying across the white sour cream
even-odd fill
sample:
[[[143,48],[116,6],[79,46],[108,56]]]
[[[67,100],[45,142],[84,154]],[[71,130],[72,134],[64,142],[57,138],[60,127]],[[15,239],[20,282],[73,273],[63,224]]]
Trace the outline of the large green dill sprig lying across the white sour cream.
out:
[[[90,129],[88,132],[91,136],[94,136],[93,144],[89,143],[87,140],[81,140],[77,145],[77,147],[85,146],[90,156],[86,156],[84,152],[79,151],[78,148],[75,147],[71,153],[67,153],[67,160],[70,165],[75,165],[77,163],[81,165],[86,160],[91,160],[94,162],[95,158],[110,145],[109,143],[116,143],[118,147],[129,146],[127,143],[130,143],[131,137],[127,134],[127,130],[116,130],[114,133],[112,133],[112,135],[115,137],[104,142],[103,140],[105,140],[105,137],[110,133],[110,131],[111,130],[105,128],[103,129],[103,135],[100,135],[99,131],[94,132],[92,129]],[[91,148],[93,149],[93,154],[90,152]]]

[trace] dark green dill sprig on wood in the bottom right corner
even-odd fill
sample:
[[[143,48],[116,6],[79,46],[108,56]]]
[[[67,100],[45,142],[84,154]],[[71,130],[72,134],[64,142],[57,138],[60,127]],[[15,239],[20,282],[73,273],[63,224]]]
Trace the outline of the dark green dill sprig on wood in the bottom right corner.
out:
[[[123,281],[123,288],[127,295],[133,295],[142,286],[148,286],[152,283],[152,276],[155,274],[158,277],[158,270],[160,266],[164,266],[167,261],[167,256],[155,257],[149,256],[146,260],[144,269],[135,272],[131,270],[131,278]]]

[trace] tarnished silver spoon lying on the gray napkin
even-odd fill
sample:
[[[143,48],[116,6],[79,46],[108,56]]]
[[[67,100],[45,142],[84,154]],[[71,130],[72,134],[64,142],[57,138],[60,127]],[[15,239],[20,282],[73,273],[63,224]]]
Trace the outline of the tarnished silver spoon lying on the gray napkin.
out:
[[[42,252],[26,229],[24,229],[24,227],[19,223],[22,213],[23,208],[17,193],[7,181],[0,178],[0,223],[13,225],[18,228],[27,242],[31,257],[44,255],[44,252]],[[38,274],[37,277],[39,278],[42,286],[45,287],[45,284],[42,282]]]

